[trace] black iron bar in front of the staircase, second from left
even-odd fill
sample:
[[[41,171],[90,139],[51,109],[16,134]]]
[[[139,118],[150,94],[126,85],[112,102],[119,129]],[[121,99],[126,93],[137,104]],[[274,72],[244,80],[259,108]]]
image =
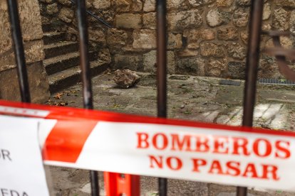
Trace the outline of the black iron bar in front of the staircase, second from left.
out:
[[[88,57],[88,25],[86,20],[85,0],[77,1],[77,18],[80,43],[80,65],[83,81],[83,104],[85,109],[93,109],[93,93],[91,88],[90,63]],[[90,171],[91,195],[99,195],[98,172]]]

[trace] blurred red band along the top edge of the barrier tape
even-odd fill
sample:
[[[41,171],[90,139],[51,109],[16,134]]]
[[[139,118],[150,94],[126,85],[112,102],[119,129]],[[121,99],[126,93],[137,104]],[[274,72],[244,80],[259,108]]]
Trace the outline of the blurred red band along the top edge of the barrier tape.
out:
[[[165,125],[175,125],[175,126],[190,126],[199,128],[209,128],[209,129],[222,129],[227,131],[242,131],[256,134],[271,134],[276,136],[292,136],[295,137],[295,133],[292,131],[279,131],[270,129],[260,129],[252,127],[242,127],[242,126],[228,126],[222,124],[207,124],[197,121],[183,121],[177,119],[161,119],[150,116],[136,116],[132,114],[120,114],[112,111],[95,111],[78,109],[71,107],[49,107],[45,105],[38,104],[27,104],[21,102],[7,102],[0,100],[0,105],[19,107],[27,109],[41,109],[49,111],[50,113],[45,119],[57,119],[68,120],[68,121],[111,121],[111,122],[126,122],[126,123],[146,123],[146,124],[165,124]],[[25,115],[22,115],[25,116]]]

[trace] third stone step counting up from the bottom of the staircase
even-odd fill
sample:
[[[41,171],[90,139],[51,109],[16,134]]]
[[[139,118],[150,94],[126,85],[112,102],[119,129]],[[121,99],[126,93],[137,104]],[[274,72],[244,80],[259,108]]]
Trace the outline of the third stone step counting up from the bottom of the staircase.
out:
[[[65,41],[59,43],[51,43],[44,45],[45,59],[53,58],[66,53],[78,51],[79,45],[77,42]]]

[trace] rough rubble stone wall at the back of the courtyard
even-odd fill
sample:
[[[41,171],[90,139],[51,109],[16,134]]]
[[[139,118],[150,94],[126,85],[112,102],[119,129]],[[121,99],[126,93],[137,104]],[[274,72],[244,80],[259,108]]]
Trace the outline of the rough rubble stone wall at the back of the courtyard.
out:
[[[75,28],[68,0],[39,1],[46,18]],[[155,72],[155,0],[88,0],[87,6],[114,26],[90,19],[90,40],[100,58],[111,58],[115,69]],[[167,0],[168,71],[243,78],[249,9],[250,0]],[[294,0],[265,0],[262,28],[290,31],[290,38],[281,39],[287,48],[294,47],[294,9]],[[271,45],[263,36],[262,48]],[[281,77],[274,58],[261,56],[259,77]]]

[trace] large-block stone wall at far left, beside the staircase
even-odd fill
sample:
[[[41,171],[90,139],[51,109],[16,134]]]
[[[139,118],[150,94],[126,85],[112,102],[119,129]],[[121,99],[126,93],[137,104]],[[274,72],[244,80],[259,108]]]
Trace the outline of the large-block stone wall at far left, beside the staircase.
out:
[[[6,1],[0,1],[0,99],[20,101],[11,26]],[[32,102],[46,102],[48,80],[43,67],[43,33],[37,0],[19,0],[21,30],[24,38],[26,64]]]

